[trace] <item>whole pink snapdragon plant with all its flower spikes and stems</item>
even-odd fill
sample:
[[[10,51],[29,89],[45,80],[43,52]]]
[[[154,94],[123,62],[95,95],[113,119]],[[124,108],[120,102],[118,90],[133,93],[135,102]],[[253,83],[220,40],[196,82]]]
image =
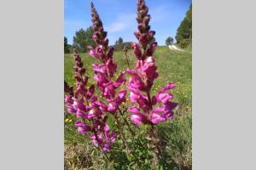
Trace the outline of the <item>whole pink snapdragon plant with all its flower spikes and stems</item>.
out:
[[[67,93],[65,95],[67,111],[76,116],[75,126],[78,128],[78,132],[83,135],[89,133],[92,143],[96,147],[100,147],[104,154],[105,151],[113,148],[113,142],[118,139],[118,134],[125,144],[127,154],[134,153],[129,149],[123,132],[124,126],[127,126],[132,136],[137,135],[131,129],[129,122],[122,116],[129,112],[131,122],[136,126],[144,124],[150,127],[148,138],[151,142],[150,149],[154,153],[152,167],[157,167],[162,159],[157,124],[172,119],[173,109],[177,103],[172,102],[173,95],[169,93],[172,88],[175,88],[175,84],[172,82],[167,83],[155,94],[152,93],[154,81],[159,77],[159,73],[154,59],[157,42],[154,41],[155,31],[151,31],[148,25],[151,19],[148,7],[144,0],[138,0],[138,30],[134,33],[138,43],[131,42],[132,51],[137,59],[136,69],[131,69],[125,48],[128,68],[121,71],[119,75],[117,75],[118,65],[113,60],[113,48],[108,47],[107,31],[104,31],[102,20],[93,3],[91,3],[91,18],[94,31],[92,39],[96,42],[96,46],[87,48],[90,50],[90,57],[98,60],[97,63],[92,64],[96,86],[88,85],[89,77],[85,76],[86,69],[83,67],[78,51],[74,49],[76,87],[73,89],[68,86],[67,82],[64,82]],[[127,76],[129,81],[128,87],[125,88],[125,77]],[[96,95],[96,89],[102,97]],[[125,98],[127,92],[130,93],[129,99],[132,105],[127,111],[122,111],[120,105],[127,101]],[[104,100],[101,100],[102,98]],[[108,126],[109,114],[115,118],[114,121],[118,125],[115,131]]]

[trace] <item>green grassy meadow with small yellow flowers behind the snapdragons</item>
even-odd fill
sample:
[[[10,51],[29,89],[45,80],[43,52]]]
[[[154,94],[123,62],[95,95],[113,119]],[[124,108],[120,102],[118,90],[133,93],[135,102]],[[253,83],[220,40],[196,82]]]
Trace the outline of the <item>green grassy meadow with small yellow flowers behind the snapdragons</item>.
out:
[[[135,57],[132,54],[131,50],[128,52],[128,55],[130,56],[130,65],[135,65]],[[96,59],[89,57],[88,54],[80,54],[80,56],[84,62],[84,67],[87,69],[87,75],[90,77],[89,83],[95,83],[92,78],[93,72],[91,64],[96,63]],[[64,57],[64,79],[70,84],[74,85],[75,80],[73,78],[73,55],[65,54]],[[174,94],[173,100],[178,102],[178,107],[175,111],[174,119],[165,123],[160,123],[158,126],[160,139],[162,140],[161,145],[166,152],[166,160],[169,161],[170,167],[168,167],[168,169],[192,169],[191,52],[175,52],[171,51],[167,47],[159,47],[154,53],[154,59],[156,60],[156,65],[158,66],[158,72],[160,74],[160,77],[154,82],[152,94],[154,94],[160,88],[163,88],[167,82],[174,82],[177,85],[177,88],[172,90],[172,94]],[[118,72],[123,71],[127,68],[127,65],[125,64],[125,55],[123,54],[123,52],[115,52],[114,60],[118,64]],[[128,105],[131,104],[128,103]],[[119,144],[116,144],[115,146],[117,147],[117,149],[111,151],[110,153],[110,155],[113,157],[118,156],[119,165],[108,166],[108,168],[104,167],[104,162],[101,161],[101,155],[99,155],[97,151],[94,152],[95,155],[90,156],[90,159],[87,159],[87,161],[83,161],[84,157],[88,157],[88,154],[90,154],[90,150],[95,149],[90,148],[89,150],[90,140],[88,140],[86,135],[82,136],[79,133],[76,133],[76,128],[73,126],[74,120],[74,116],[68,114],[65,115],[65,147],[68,148],[65,151],[65,167],[73,170],[100,169],[100,167],[102,169],[129,169],[128,167],[130,165],[128,165],[127,162],[131,161],[125,161],[125,157],[122,154],[122,148],[118,148]],[[108,123],[110,123],[110,127],[115,126],[111,122],[111,119]],[[147,127],[140,128],[140,130],[137,128],[134,129],[137,129],[137,133],[147,130]],[[132,143],[136,143],[137,140],[138,139],[131,138]],[[83,147],[84,144],[86,146]],[[76,148],[76,146],[78,146],[79,149]],[[134,147],[136,148],[137,146],[134,145]],[[81,154],[84,155],[84,157],[81,156]],[[145,155],[147,154],[145,153]],[[94,157],[94,159],[91,159],[91,157]],[[149,158],[147,158],[147,156],[144,156],[141,159],[143,161],[147,161]],[[138,167],[137,169],[147,168],[148,167]]]

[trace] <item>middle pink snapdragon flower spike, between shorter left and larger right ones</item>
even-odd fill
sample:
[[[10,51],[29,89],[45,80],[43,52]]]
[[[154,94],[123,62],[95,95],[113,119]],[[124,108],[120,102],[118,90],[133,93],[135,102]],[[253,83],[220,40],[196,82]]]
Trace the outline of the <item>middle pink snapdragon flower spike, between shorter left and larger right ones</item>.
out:
[[[100,60],[100,64],[93,64],[95,71],[94,79],[97,87],[101,90],[102,96],[108,101],[107,111],[114,114],[119,110],[119,105],[125,102],[126,90],[117,93],[117,88],[125,83],[125,72],[121,72],[116,80],[113,76],[117,71],[117,65],[113,62],[113,48],[108,48],[107,32],[104,31],[102,20],[96,12],[96,8],[91,3],[91,16],[93,24],[93,39],[96,42],[96,48],[90,49],[90,56]]]

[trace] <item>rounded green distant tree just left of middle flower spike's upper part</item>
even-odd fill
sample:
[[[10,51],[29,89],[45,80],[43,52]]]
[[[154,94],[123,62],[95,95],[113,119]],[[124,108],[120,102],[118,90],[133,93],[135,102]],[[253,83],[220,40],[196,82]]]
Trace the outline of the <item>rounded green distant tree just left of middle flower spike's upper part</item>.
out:
[[[92,40],[93,30],[90,26],[86,30],[82,28],[76,31],[73,37],[73,48],[77,48],[79,52],[84,53],[87,51],[87,46],[95,46],[95,42]]]

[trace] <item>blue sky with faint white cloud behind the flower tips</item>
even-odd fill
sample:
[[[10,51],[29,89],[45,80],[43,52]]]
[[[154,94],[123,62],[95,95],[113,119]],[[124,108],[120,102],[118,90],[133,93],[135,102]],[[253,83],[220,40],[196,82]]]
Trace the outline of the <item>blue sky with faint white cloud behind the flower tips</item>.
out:
[[[112,45],[119,37],[124,42],[137,42],[137,0],[93,0]],[[177,27],[189,9],[191,0],[146,0],[151,15],[149,25],[156,31],[155,39],[164,45],[166,37],[175,37]],[[91,26],[90,0],[64,1],[64,29],[68,43],[73,43],[75,31]]]

